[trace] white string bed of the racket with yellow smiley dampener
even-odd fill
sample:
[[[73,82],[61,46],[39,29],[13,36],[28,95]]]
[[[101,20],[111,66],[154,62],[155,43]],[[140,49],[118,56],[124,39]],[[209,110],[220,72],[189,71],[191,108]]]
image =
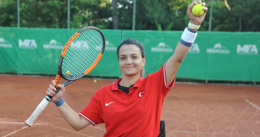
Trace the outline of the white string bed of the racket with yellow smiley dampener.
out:
[[[62,74],[72,79],[80,76],[95,62],[103,48],[99,31],[88,29],[81,32],[70,44],[62,62]],[[68,72],[69,73],[66,73]]]

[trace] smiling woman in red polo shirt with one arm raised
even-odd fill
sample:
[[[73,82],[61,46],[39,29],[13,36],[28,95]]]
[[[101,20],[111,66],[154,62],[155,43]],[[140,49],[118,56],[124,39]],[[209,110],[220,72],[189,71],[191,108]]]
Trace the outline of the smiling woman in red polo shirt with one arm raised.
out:
[[[174,86],[176,73],[207,12],[205,7],[202,16],[194,16],[191,9],[197,3],[201,1],[194,0],[188,6],[189,27],[185,28],[173,55],[159,71],[144,78],[144,46],[136,39],[124,40],[117,50],[122,78],[101,87],[80,113],[73,111],[63,100],[64,85],[58,85],[61,90],[54,95],[53,80],[46,93],[53,96],[51,101],[58,106],[66,122],[74,130],[105,123],[104,136],[158,136],[164,98]]]

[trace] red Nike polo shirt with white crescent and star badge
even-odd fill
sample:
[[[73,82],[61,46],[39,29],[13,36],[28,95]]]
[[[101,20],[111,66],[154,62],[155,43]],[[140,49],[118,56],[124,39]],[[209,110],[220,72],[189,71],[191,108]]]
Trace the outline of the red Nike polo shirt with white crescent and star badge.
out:
[[[175,80],[167,86],[165,64],[144,79],[140,77],[128,94],[118,90],[118,79],[101,87],[79,115],[93,126],[105,123],[104,136],[158,136],[161,107]]]

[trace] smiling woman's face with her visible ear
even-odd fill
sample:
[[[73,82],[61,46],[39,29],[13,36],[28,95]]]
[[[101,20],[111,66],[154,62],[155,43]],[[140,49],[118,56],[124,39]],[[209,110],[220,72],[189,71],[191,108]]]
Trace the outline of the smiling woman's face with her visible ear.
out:
[[[140,48],[136,45],[122,45],[118,52],[120,70],[126,76],[140,76],[145,58],[142,58]]]

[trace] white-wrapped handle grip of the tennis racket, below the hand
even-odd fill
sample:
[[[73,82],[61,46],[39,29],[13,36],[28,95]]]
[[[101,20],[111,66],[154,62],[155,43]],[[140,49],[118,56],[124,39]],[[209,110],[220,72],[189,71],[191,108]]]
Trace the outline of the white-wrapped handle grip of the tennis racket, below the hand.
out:
[[[28,125],[29,127],[34,123],[34,121],[37,119],[37,117],[40,115],[40,113],[42,113],[42,111],[45,109],[45,107],[48,105],[48,103],[50,102],[50,100],[46,99],[47,96],[45,96],[45,98],[42,100],[42,102],[40,102],[40,104],[36,107],[36,109],[34,110],[34,112],[31,114],[31,116],[24,122],[26,125]],[[48,97],[49,98],[49,97]]]

